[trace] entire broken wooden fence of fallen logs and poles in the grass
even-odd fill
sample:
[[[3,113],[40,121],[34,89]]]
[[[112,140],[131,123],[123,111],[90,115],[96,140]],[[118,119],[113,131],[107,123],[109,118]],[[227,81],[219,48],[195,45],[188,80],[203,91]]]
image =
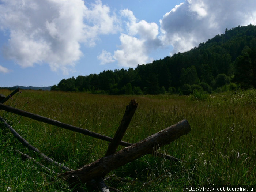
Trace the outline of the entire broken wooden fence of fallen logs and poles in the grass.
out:
[[[96,181],[98,181],[100,178],[105,177],[105,175],[108,172],[110,172],[111,170],[116,169],[117,167],[122,166],[122,165],[126,164],[127,162],[133,161],[134,159],[137,159],[146,154],[150,154],[152,152],[153,152],[153,155],[158,154],[157,156],[160,156],[160,157],[163,157],[163,156],[168,157],[169,155],[158,153],[156,150],[160,146],[169,144],[173,140],[179,138],[180,136],[182,136],[184,134],[187,134],[190,131],[190,125],[189,125],[188,121],[182,120],[182,121],[178,122],[177,124],[172,125],[158,133],[155,133],[154,135],[151,135],[150,137],[148,137],[138,143],[130,144],[130,143],[125,142],[125,146],[129,146],[129,147],[126,147],[123,150],[118,151],[117,153],[114,153],[116,151],[118,144],[123,143],[121,141],[121,139],[122,139],[124,132],[127,129],[129,122],[131,121],[131,118],[137,108],[138,103],[136,103],[135,100],[132,100],[129,103],[129,105],[127,106],[127,108],[125,110],[124,117],[121,121],[120,126],[118,127],[118,130],[117,130],[114,138],[110,138],[108,136],[104,136],[104,135],[101,135],[98,133],[91,132],[87,129],[82,129],[79,127],[75,127],[73,125],[68,125],[68,124],[61,123],[56,120],[52,120],[47,117],[42,117],[37,114],[29,113],[29,112],[26,112],[26,111],[23,111],[20,109],[16,109],[16,108],[13,108],[10,106],[3,105],[3,103],[5,101],[7,101],[9,98],[11,98],[11,96],[14,95],[18,91],[19,91],[19,88],[16,89],[14,92],[12,92],[8,97],[5,97],[2,101],[0,101],[0,109],[11,112],[11,113],[15,113],[15,114],[18,114],[21,116],[29,117],[31,119],[38,120],[38,121],[41,121],[44,123],[52,124],[57,127],[62,127],[62,128],[65,128],[65,129],[68,129],[71,131],[83,133],[85,135],[89,135],[89,136],[92,136],[92,137],[95,137],[98,139],[110,141],[109,148],[108,148],[108,151],[107,151],[105,157],[98,159],[97,161],[90,163],[89,165],[84,165],[77,170],[71,170],[69,172],[66,172],[66,173],[63,173],[60,175],[60,176],[64,177],[65,180],[67,180],[71,186],[72,185],[74,186],[74,184],[78,184],[81,181],[87,182],[88,180],[91,180],[91,179],[95,179]],[[31,146],[29,143],[27,143],[26,140],[24,138],[22,138],[18,133],[16,134],[16,131],[14,129],[12,130],[12,127],[10,125],[8,125],[7,122],[2,117],[0,117],[0,120],[5,123],[5,126],[7,126],[11,130],[11,132],[14,135],[16,135],[16,137],[18,135],[17,138],[20,140],[20,142],[22,142],[30,150],[36,151],[37,153],[41,153],[39,150],[37,150],[37,148],[35,148],[35,147]],[[153,150],[152,150],[152,148],[153,148]],[[44,157],[44,154],[41,153],[41,156]],[[171,157],[170,159],[173,159],[173,160],[179,160],[172,156],[169,156],[169,157]],[[122,159],[122,158],[123,158],[123,161],[120,161],[120,159]],[[44,157],[44,159],[49,161],[48,157],[46,157],[46,158]],[[52,160],[52,159],[50,159],[50,160]],[[113,163],[113,161],[114,161],[114,163]],[[54,163],[60,164],[57,162],[54,162]],[[103,166],[103,168],[102,168],[102,166]],[[66,167],[62,167],[62,168],[66,168]],[[67,167],[67,169],[69,169],[69,168]],[[86,176],[84,176],[84,175],[86,175]],[[98,185],[101,186],[101,187],[99,187],[101,189],[101,191],[109,192],[109,190],[107,189],[108,187],[105,185],[103,179],[102,179],[102,182],[104,185],[99,185],[101,182],[99,182],[99,181],[97,182]]]

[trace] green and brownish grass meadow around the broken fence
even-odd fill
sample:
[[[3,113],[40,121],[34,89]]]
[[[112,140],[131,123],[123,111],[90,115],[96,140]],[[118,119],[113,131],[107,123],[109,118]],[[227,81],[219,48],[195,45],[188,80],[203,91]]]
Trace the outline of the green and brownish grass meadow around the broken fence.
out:
[[[8,95],[10,91],[2,89],[0,93]],[[256,185],[255,90],[212,94],[204,100],[167,94],[110,96],[22,90],[5,104],[113,137],[131,99],[138,108],[123,140],[135,143],[187,119],[191,132],[160,149],[183,161],[146,155],[111,172],[109,175],[115,176],[106,180],[107,185],[145,192],[182,191],[190,185]],[[103,157],[108,147],[108,142],[26,117],[3,111],[0,115],[30,144],[72,169]],[[55,172],[64,172],[28,151],[0,123],[0,189],[70,191],[56,174],[33,161],[23,161],[16,150]]]

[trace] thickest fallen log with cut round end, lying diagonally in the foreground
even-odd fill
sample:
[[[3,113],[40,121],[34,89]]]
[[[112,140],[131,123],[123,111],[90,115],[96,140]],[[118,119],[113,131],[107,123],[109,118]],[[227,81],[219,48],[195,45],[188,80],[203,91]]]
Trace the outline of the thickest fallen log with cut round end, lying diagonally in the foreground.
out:
[[[110,171],[125,165],[128,162],[138,159],[146,154],[151,154],[159,147],[169,144],[180,136],[190,131],[190,125],[187,120],[182,120],[154,135],[149,136],[142,141],[125,147],[115,154],[100,158],[93,163],[84,165],[77,170],[61,174],[71,185],[80,182],[87,182],[93,178],[105,176]]]

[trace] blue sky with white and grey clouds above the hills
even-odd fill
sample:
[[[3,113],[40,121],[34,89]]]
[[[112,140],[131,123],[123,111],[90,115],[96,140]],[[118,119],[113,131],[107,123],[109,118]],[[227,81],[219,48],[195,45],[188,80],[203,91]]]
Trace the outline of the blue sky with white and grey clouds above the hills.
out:
[[[256,25],[255,0],[0,0],[0,87],[135,68]]]

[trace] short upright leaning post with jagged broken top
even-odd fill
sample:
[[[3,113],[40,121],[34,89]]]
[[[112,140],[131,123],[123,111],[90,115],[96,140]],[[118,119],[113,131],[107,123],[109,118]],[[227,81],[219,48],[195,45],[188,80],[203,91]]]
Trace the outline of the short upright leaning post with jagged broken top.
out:
[[[126,129],[128,128],[129,123],[132,120],[133,114],[135,113],[137,109],[138,103],[135,102],[135,100],[131,100],[129,105],[127,105],[123,119],[112,139],[112,141],[109,143],[108,150],[105,154],[105,156],[111,155],[116,152],[117,147],[119,143],[121,142],[124,133]]]

